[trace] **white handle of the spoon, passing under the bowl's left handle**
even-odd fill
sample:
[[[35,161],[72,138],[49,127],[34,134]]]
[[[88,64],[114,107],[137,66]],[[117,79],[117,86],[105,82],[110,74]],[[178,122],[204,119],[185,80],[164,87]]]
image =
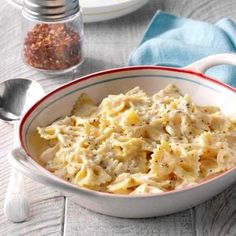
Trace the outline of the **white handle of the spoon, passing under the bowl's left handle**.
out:
[[[18,122],[14,123],[14,148],[19,146]],[[12,222],[23,222],[30,214],[30,206],[24,190],[24,177],[12,168],[4,202],[4,213]]]

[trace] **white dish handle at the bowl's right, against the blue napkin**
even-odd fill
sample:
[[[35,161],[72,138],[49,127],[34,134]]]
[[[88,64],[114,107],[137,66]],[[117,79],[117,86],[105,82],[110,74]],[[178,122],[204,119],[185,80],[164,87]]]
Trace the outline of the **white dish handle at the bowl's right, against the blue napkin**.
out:
[[[236,66],[236,53],[222,53],[212,55],[194,62],[183,69],[205,73],[210,67],[229,64]]]

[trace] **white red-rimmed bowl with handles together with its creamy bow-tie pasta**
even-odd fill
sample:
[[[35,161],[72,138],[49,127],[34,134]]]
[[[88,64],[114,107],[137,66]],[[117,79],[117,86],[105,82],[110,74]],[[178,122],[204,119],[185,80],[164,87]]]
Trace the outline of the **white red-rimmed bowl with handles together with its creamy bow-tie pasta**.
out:
[[[125,67],[74,80],[25,114],[21,147],[8,160],[111,216],[152,217],[200,204],[236,180],[236,90],[199,72],[235,61],[216,55],[185,69]]]

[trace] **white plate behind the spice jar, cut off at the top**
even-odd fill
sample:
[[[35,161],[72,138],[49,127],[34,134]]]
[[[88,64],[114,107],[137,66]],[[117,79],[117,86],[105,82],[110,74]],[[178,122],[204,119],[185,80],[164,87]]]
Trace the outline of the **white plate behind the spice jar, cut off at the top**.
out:
[[[21,8],[23,0],[7,0]],[[127,15],[144,6],[148,0],[80,0],[84,22],[110,20]]]

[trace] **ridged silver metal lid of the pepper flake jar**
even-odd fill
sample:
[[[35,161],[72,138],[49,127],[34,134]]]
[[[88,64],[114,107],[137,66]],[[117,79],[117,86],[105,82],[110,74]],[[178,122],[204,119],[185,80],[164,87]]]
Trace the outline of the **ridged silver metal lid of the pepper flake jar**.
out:
[[[78,0],[24,0],[23,14],[39,21],[58,21],[79,10]]]

